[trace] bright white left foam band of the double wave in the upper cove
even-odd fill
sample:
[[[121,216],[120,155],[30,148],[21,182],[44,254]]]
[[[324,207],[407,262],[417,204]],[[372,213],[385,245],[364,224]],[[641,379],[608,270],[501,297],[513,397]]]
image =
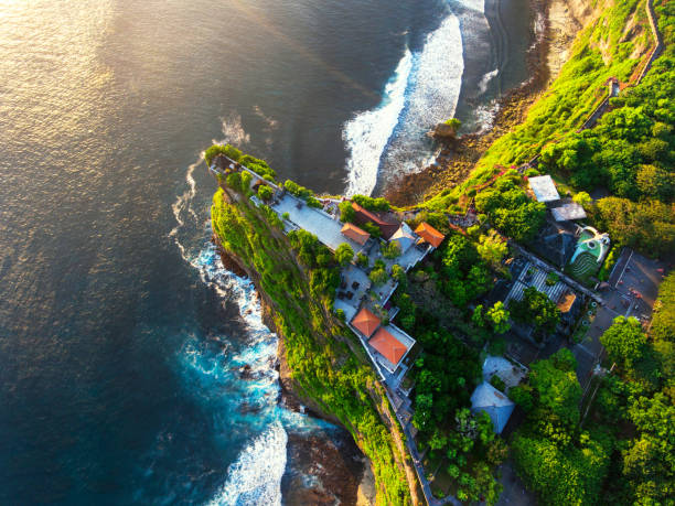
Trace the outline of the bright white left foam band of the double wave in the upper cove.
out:
[[[387,83],[382,103],[374,110],[357,114],[344,125],[342,138],[350,151],[346,195],[369,195],[377,182],[382,153],[398,122],[413,69],[413,54],[406,52]]]

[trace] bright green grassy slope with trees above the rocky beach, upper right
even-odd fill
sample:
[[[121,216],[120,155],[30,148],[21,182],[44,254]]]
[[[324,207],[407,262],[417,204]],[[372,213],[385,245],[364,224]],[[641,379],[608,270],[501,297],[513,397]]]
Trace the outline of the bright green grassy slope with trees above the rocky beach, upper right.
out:
[[[467,181],[440,189],[424,207],[463,213],[499,174],[517,166],[525,175],[553,174],[570,195],[596,192],[591,218],[614,244],[656,255],[672,250],[675,4],[654,1],[663,45],[643,75],[656,45],[645,1],[607,3],[578,34],[571,56],[524,122],[486,150]],[[604,114],[586,128],[612,82],[617,88]]]

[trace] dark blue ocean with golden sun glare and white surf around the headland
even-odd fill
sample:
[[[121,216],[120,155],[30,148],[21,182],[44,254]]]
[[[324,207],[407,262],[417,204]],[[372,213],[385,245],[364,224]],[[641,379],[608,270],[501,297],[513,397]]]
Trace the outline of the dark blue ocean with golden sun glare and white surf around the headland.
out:
[[[293,444],[344,433],[278,402],[277,337],[210,243],[201,153],[232,142],[318,192],[377,193],[432,157],[435,122],[478,129],[527,78],[527,12],[0,0],[0,504],[321,487]]]

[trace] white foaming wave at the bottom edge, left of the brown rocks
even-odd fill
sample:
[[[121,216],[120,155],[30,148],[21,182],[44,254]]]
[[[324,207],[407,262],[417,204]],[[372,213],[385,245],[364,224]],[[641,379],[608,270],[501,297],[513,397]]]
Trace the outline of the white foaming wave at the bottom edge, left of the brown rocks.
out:
[[[227,481],[208,505],[280,505],[287,444],[281,423],[271,424],[228,467]]]

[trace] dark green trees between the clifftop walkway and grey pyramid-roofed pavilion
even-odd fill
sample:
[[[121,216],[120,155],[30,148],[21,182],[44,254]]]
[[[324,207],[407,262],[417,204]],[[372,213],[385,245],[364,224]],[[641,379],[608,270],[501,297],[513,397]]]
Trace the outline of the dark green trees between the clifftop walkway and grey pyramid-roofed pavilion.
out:
[[[419,445],[428,448],[429,463],[440,465],[456,483],[458,498],[474,502],[483,496],[494,504],[501,485],[491,470],[504,452],[490,417],[469,411],[470,392],[481,375],[478,353],[443,330],[430,330],[438,329],[430,320],[431,315],[421,315],[415,330],[425,349],[414,368],[413,424],[419,430]],[[419,333],[421,329],[427,330]]]

